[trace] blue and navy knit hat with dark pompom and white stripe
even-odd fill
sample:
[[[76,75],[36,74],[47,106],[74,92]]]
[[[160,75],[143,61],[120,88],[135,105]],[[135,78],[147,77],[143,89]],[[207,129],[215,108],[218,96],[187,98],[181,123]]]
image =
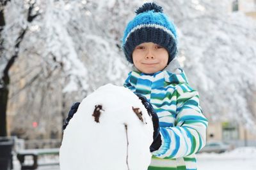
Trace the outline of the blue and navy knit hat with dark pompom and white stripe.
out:
[[[168,51],[168,64],[177,55],[177,34],[175,25],[164,15],[161,6],[145,3],[136,10],[136,16],[124,31],[122,48],[126,59],[133,63],[132,52],[141,43],[152,42]]]

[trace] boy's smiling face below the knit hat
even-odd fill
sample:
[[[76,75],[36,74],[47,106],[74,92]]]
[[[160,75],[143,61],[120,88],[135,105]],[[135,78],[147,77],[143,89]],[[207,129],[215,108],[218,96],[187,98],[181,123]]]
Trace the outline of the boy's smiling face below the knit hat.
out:
[[[142,73],[156,73],[167,66],[168,52],[155,43],[141,43],[132,52],[134,66]]]

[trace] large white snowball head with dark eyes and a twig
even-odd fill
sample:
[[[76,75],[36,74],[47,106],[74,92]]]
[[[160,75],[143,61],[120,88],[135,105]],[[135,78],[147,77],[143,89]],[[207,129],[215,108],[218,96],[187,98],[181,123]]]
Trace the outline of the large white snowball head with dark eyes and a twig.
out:
[[[83,99],[63,134],[60,169],[146,170],[153,125],[140,99],[104,85]]]

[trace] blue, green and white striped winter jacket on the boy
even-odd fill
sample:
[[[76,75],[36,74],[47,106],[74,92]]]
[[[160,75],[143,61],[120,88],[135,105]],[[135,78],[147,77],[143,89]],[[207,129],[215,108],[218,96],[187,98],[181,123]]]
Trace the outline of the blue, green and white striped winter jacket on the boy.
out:
[[[171,72],[170,67],[154,74],[131,71],[124,83],[147,97],[159,117],[162,145],[152,153],[148,170],[196,169],[195,153],[205,145],[208,122],[198,92],[189,86],[182,69]]]

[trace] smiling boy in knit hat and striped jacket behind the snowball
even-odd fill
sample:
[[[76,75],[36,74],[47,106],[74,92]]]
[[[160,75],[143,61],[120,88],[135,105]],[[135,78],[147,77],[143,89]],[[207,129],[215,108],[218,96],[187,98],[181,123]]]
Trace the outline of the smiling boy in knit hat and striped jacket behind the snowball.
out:
[[[196,169],[195,153],[205,145],[207,119],[198,92],[189,87],[177,62],[175,27],[155,3],[143,4],[136,14],[122,42],[125,57],[133,64],[124,87],[137,94],[153,115],[148,169]],[[78,105],[72,106],[63,129]]]

